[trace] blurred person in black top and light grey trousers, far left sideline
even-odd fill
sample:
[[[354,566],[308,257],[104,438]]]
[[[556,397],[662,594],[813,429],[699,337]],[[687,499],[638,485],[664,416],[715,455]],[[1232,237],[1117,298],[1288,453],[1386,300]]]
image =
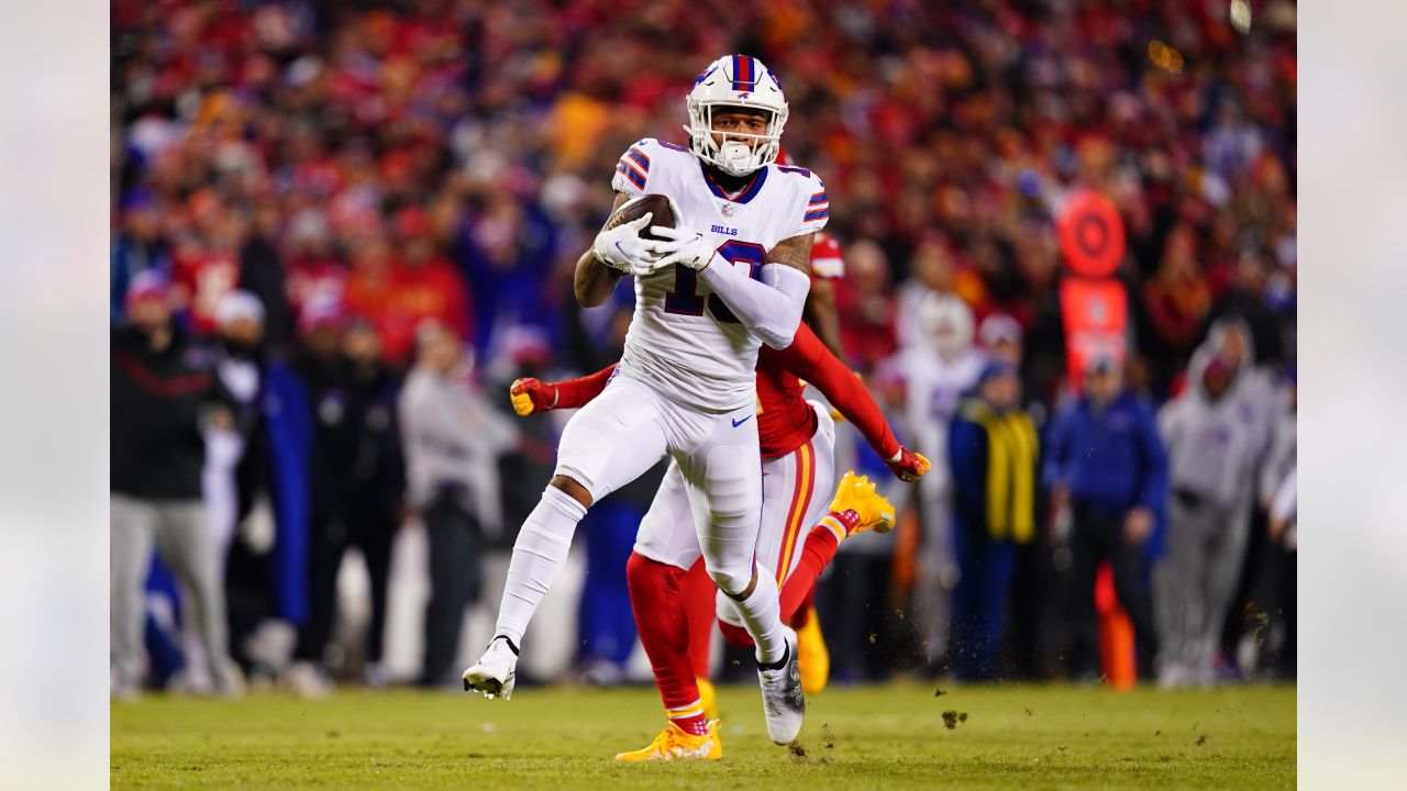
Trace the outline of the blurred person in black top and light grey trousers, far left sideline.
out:
[[[144,680],[142,586],[155,549],[193,598],[191,612],[217,692],[235,695],[219,540],[201,501],[203,434],[232,425],[211,356],[172,321],[170,286],[155,270],[132,279],[128,324],[113,331],[111,594],[113,694]]]

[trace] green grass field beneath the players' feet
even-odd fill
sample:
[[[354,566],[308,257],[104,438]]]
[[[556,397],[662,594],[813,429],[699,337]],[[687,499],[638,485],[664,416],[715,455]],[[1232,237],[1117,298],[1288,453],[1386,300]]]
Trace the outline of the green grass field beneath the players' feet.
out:
[[[944,694],[936,697],[937,687]],[[343,691],[151,697],[111,707],[117,788],[1292,788],[1293,687],[1116,694],[895,684],[813,698],[801,749],[768,742],[756,688],[719,691],[723,760],[618,764],[663,726],[651,688],[512,701]],[[955,728],[947,728],[944,712]]]

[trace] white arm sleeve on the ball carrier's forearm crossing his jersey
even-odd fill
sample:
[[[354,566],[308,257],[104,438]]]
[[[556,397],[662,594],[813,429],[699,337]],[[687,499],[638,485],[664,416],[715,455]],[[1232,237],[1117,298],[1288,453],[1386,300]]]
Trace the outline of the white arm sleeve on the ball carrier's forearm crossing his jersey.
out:
[[[772,349],[791,346],[810,291],[810,277],[782,263],[765,263],[758,281],[718,255],[699,276],[763,343]]]

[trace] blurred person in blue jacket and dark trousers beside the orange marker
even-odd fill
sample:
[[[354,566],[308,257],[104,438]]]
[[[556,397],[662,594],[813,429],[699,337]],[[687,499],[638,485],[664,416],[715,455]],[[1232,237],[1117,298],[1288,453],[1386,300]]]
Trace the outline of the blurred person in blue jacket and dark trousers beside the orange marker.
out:
[[[1158,553],[1155,528],[1168,500],[1168,455],[1152,410],[1124,387],[1112,356],[1085,369],[1085,393],[1051,426],[1044,483],[1055,512],[1071,515],[1076,678],[1099,674],[1095,576],[1113,567],[1114,591],[1138,640],[1140,674],[1148,677],[1158,636],[1148,594],[1147,562]]]

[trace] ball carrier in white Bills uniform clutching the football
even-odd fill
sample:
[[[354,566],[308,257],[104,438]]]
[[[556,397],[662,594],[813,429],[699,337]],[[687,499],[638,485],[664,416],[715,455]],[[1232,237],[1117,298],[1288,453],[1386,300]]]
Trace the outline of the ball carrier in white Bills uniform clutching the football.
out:
[[[757,645],[768,735],[787,745],[806,702],[777,581],[754,560],[763,505],[754,367],[758,346],[787,348],[801,321],[812,238],[829,217],[826,187],[809,170],[774,165],[787,100],[761,61],[715,61],[687,108],[688,148],[642,139],[612,180],[616,210],[663,194],[675,227],[651,227],[663,242],[642,238],[649,214],[604,228],[577,262],[582,305],[604,303],[632,274],[635,315],[611,384],[563,431],[556,474],[514,546],[494,639],[464,687],[512,692],[518,643],[577,522],[668,455],[699,512],[692,524],[709,577]]]

